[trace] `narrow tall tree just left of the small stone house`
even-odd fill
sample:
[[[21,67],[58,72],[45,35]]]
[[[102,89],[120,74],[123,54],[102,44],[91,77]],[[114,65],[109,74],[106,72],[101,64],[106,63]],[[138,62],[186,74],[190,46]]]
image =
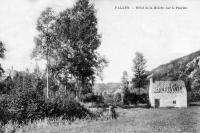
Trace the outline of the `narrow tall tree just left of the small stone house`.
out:
[[[142,53],[136,52],[135,58],[133,59],[133,68],[132,71],[134,73],[134,78],[132,79],[132,82],[134,83],[134,88],[140,89],[143,88],[146,85],[146,59],[144,58]]]

